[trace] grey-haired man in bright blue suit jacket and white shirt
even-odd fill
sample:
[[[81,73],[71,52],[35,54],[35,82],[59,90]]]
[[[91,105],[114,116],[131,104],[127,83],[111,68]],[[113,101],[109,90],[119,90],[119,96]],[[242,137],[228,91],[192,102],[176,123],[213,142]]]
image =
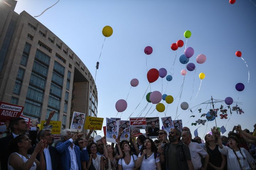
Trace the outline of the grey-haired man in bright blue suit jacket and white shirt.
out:
[[[65,129],[60,133],[60,138],[62,139],[62,142],[59,142],[56,145],[56,149],[58,153],[61,154],[61,163],[63,170],[70,170],[71,168],[81,170],[81,161],[89,160],[87,149],[84,148],[82,149],[82,151],[80,151],[80,148],[73,144],[73,141],[82,137],[82,135],[82,133],[74,135],[70,129]]]

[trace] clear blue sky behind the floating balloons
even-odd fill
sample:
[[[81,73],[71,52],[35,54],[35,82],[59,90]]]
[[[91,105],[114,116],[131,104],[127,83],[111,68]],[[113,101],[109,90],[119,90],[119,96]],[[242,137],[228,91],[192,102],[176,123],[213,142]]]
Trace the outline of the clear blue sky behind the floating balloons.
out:
[[[20,13],[25,10],[36,16],[56,1],[18,0],[15,11]],[[240,124],[242,128],[252,131],[256,123],[254,16],[256,6],[250,0],[237,0],[233,5],[229,4],[228,0],[60,0],[36,19],[62,39],[80,57],[92,75],[95,75],[96,62],[104,40],[102,28],[106,25],[113,28],[112,36],[106,38],[103,46],[97,71],[98,117],[115,117],[115,103],[119,99],[126,99],[130,80],[137,78],[139,85],[130,89],[128,107],[122,115],[124,120],[134,111],[148,87],[146,57],[148,69],[164,67],[171,71],[176,51],[172,51],[170,45],[179,39],[186,42],[183,33],[190,30],[192,36],[187,40],[187,47],[191,46],[195,51],[190,62],[196,64],[197,68],[196,73],[188,71],[185,77],[180,103],[191,103],[190,107],[193,107],[209,100],[211,95],[220,100],[232,97],[234,101],[243,103],[239,106],[245,113],[233,113],[229,122],[229,119],[221,120],[218,116],[217,125],[225,126],[228,122],[226,129],[229,131],[234,125]],[[144,54],[145,46],[152,46],[151,55]],[[161,92],[163,84],[163,91],[167,86],[166,94],[173,97],[178,95],[183,82],[180,71],[185,68],[178,59],[184,50],[185,45],[177,50],[177,59],[173,66],[174,75],[168,86],[165,78],[163,82],[159,78],[151,83],[151,91]],[[248,68],[241,58],[235,56],[238,50],[242,52],[242,57],[248,64],[249,83]],[[204,64],[196,63],[198,54],[206,55]],[[204,72],[206,78],[202,80],[201,89],[194,100],[200,84],[200,72]],[[235,89],[236,83],[239,82],[245,84],[242,92]],[[148,89],[146,93],[149,91]],[[200,119],[201,114],[207,113],[210,107],[201,105],[199,108],[202,108],[202,113],[195,111],[196,116],[189,119],[191,113],[188,110],[183,111],[178,100],[179,98],[176,98],[169,104],[166,115],[174,119],[178,105],[178,118],[182,119],[183,126],[190,127],[193,132],[199,125],[191,126],[191,123]],[[132,117],[137,116],[146,104],[144,98]],[[165,102],[164,104],[167,106]],[[220,103],[215,107],[220,107]],[[155,108],[155,105],[152,108]],[[150,117],[157,114],[155,110]],[[121,113],[118,117],[120,115]],[[158,116],[164,117],[164,113],[159,113]],[[212,121],[198,128],[199,136],[203,137],[214,125],[215,122]],[[224,135],[227,135],[227,132]]]

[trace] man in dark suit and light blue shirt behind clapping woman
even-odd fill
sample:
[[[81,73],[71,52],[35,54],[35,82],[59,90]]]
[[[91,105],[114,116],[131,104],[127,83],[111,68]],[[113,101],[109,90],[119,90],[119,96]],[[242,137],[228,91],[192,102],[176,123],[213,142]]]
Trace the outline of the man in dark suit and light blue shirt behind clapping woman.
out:
[[[61,164],[60,164],[60,155],[57,152],[55,147],[52,147],[53,143],[53,136],[52,136],[52,130],[50,129],[43,129],[38,133],[38,141],[45,139],[47,140],[47,147],[43,150],[44,160],[46,162],[46,170],[61,170]],[[30,150],[28,150],[29,154],[32,154],[34,152],[34,148],[36,146],[33,146]],[[37,160],[40,160],[40,155],[37,154],[36,156]]]

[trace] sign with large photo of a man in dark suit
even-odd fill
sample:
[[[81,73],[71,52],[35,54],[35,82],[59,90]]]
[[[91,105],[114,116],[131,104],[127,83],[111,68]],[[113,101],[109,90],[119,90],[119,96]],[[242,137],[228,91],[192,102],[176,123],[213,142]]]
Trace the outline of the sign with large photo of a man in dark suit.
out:
[[[156,138],[160,129],[159,117],[147,117],[146,118],[146,135]]]

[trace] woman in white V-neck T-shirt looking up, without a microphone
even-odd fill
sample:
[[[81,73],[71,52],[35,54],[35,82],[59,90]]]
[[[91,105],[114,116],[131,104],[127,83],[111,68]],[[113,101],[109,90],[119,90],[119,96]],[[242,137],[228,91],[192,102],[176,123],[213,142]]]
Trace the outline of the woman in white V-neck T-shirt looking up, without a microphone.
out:
[[[123,142],[121,146],[123,158],[118,160],[118,170],[135,170],[135,163],[138,157],[131,153],[130,145]]]

